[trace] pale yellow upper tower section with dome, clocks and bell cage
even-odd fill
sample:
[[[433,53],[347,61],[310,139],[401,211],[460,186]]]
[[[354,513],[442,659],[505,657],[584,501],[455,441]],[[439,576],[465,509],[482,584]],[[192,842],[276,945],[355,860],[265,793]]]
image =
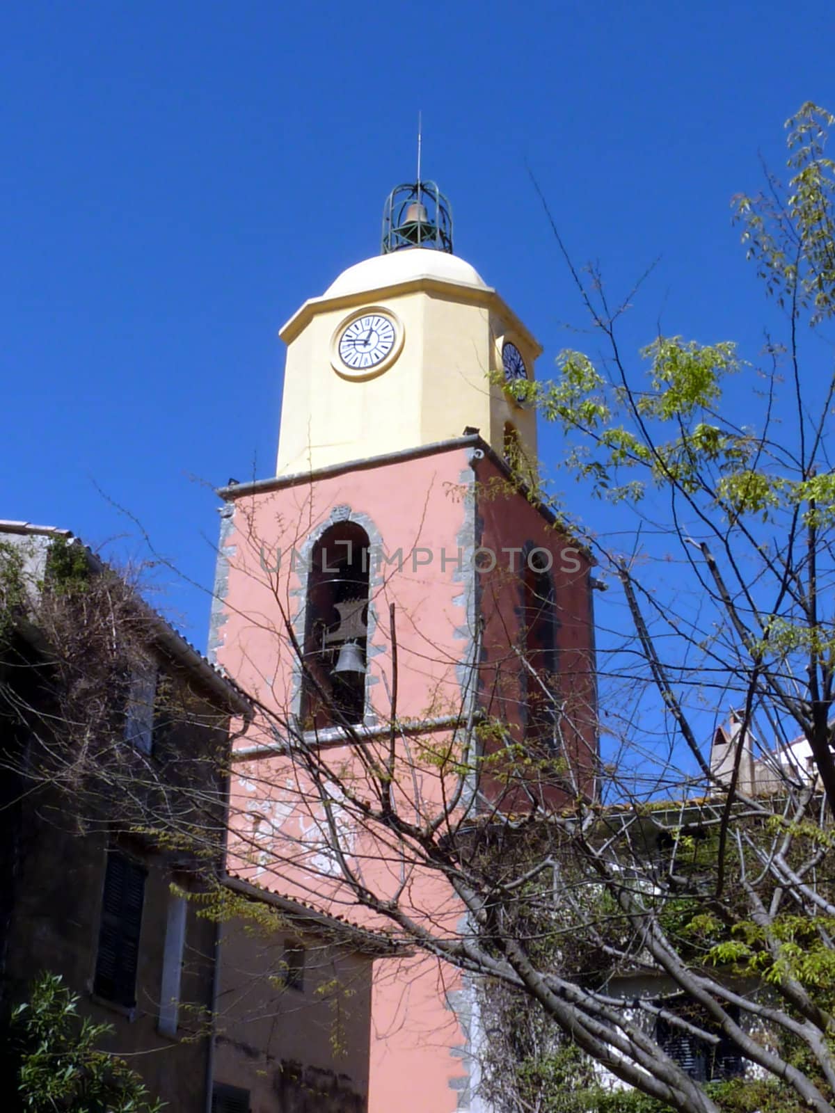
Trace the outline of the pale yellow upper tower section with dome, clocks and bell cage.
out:
[[[533,465],[536,417],[512,386],[533,377],[542,349],[452,254],[449,203],[433,181],[392,190],[382,253],[306,301],[279,335],[287,363],[278,475],[418,449],[464,429]]]

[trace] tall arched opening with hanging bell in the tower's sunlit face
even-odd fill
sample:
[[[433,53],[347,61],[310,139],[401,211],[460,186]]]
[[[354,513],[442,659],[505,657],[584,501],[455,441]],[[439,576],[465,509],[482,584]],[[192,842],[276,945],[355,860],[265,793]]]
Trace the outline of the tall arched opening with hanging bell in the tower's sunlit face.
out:
[[[325,530],[307,577],[302,722],[306,730],[356,725],[365,715],[369,535],[355,522]]]

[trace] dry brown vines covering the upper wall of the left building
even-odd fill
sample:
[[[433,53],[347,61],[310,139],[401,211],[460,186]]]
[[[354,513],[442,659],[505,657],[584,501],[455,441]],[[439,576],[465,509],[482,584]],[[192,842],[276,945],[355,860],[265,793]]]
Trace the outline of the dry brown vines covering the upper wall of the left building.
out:
[[[0,717],[26,740],[7,760],[22,784],[60,789],[73,804],[45,814],[76,831],[109,816],[160,847],[216,861],[227,712],[169,664],[137,572],[71,539],[50,539],[45,551],[4,544],[3,621],[19,636],[7,639]],[[127,737],[137,721],[150,755]]]

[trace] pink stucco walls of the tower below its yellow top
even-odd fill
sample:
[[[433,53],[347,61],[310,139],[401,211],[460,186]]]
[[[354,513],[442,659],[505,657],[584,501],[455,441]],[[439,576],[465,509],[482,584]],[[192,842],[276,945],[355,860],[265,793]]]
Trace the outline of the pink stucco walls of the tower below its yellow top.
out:
[[[480,459],[474,471],[471,456],[471,447],[455,446],[324,475],[313,483],[261,487],[254,493],[244,490],[235,498],[234,515],[222,542],[222,561],[227,561],[228,568],[218,581],[223,584],[223,609],[216,622],[216,658],[273,711],[273,723],[297,708],[297,654],[289,631],[295,629],[301,637],[304,570],[291,568],[288,551],[305,552],[331,521],[345,515],[370,534],[373,554],[382,543],[387,555],[402,550],[404,556],[402,563],[386,564],[379,555],[372,558],[366,695],[377,721],[386,722],[391,711],[389,621],[390,604],[394,603],[401,719],[443,719],[462,711],[462,680],[472,677],[468,663],[472,661],[477,614],[481,614],[484,660],[480,699],[491,713],[519,722],[518,654],[509,648],[519,631],[518,579],[504,572],[477,573],[466,561],[468,550],[471,553],[483,545],[499,551],[532,543],[559,552],[564,539],[523,496],[507,491],[497,495],[491,482],[499,475],[495,465]],[[458,560],[460,546],[463,563]],[[570,742],[571,760],[580,769],[583,789],[590,792],[593,643],[587,559],[582,556],[579,569],[570,572],[556,565],[554,584],[564,689],[582,712],[576,717],[579,726]],[[438,809],[446,786],[438,764],[422,759],[425,750],[421,747],[431,750],[449,739],[449,727],[439,726],[413,738],[407,751],[402,745],[399,751],[401,802],[423,818]],[[269,740],[268,732],[256,723],[237,745],[242,750]],[[380,740],[370,742],[367,752],[382,745]],[[328,760],[351,770],[345,776],[355,778],[354,787],[367,777],[350,747],[332,743]],[[355,922],[371,923],[373,917],[351,907],[336,864],[328,863],[324,845],[317,847],[321,816],[317,818],[316,798],[310,788],[279,757],[240,762],[233,786],[240,835],[233,846],[238,854],[235,867],[253,880],[337,914],[350,912]],[[371,781],[367,788],[373,790]],[[548,802],[561,799],[564,795],[550,790]],[[509,808],[518,802],[512,796],[504,801]],[[275,853],[262,853],[258,846],[273,837]],[[428,876],[411,865],[404,867],[396,846],[375,843],[361,827],[350,833],[350,839],[369,887],[394,892],[407,868],[409,885],[401,899],[415,916],[454,927],[461,909],[438,876]],[[450,1005],[460,991],[458,973],[435,959],[377,961],[371,1113],[390,1113],[392,1109],[452,1113],[459,1106],[459,1094],[465,1090],[465,1033]]]

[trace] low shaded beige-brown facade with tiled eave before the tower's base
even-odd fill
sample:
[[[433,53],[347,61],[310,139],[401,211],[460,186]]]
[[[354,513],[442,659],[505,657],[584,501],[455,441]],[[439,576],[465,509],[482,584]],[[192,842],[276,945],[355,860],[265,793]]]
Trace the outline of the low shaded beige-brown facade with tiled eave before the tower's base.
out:
[[[227,878],[246,904],[223,926],[216,1113],[363,1113],[372,964],[386,940]]]

